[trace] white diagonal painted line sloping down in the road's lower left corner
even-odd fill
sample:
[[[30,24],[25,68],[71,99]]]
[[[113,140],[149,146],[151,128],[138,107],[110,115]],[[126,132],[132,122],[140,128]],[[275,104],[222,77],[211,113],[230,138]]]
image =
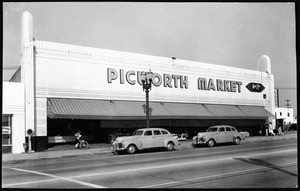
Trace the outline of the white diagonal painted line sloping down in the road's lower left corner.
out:
[[[37,172],[37,171],[32,171],[32,170],[24,170],[24,169],[19,169],[19,168],[10,168],[10,169],[16,170],[16,171],[28,172],[28,173],[32,173],[32,174],[43,175],[43,176],[49,176],[49,177],[54,178],[56,180],[64,180],[64,181],[73,182],[73,183],[76,183],[76,184],[81,184],[81,185],[92,187],[92,188],[106,188],[104,186],[100,186],[100,185],[97,185],[97,184],[91,184],[91,183],[88,183],[88,182],[83,182],[83,181],[80,181],[80,180],[73,180],[72,178],[64,178],[64,177],[55,176],[55,175],[52,175],[52,174],[43,173],[43,172]],[[45,182],[45,181],[39,181],[39,182]],[[36,183],[36,182],[32,181],[32,182],[26,182],[26,183],[27,184],[32,184],[32,183]],[[2,186],[5,187],[5,186],[14,186],[14,185],[17,185],[17,184],[2,185]],[[20,184],[18,184],[18,185],[20,185]]]

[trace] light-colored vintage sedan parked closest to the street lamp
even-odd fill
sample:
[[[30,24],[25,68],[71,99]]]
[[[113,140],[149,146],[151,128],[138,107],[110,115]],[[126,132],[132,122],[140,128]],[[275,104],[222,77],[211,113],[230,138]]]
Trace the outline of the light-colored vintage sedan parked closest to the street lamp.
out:
[[[138,150],[165,147],[168,151],[178,146],[178,139],[162,128],[143,128],[133,133],[133,136],[118,137],[113,143],[111,150],[114,153],[126,151],[133,154]]]

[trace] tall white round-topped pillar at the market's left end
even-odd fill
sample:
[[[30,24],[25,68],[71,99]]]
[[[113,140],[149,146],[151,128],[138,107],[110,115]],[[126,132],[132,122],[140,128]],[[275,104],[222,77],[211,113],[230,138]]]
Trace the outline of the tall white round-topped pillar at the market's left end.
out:
[[[35,132],[34,76],[33,20],[29,12],[24,12],[21,21],[21,82],[25,85],[25,131],[32,129]]]

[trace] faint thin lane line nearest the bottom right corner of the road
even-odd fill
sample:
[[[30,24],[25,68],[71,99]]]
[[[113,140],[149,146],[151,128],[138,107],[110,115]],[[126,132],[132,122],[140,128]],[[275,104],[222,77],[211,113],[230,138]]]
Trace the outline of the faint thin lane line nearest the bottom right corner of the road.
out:
[[[281,165],[276,165],[276,167],[285,167],[288,165],[294,165],[297,164],[296,162],[293,163],[285,163]],[[148,185],[148,186],[143,186],[139,188],[153,188],[153,187],[158,187],[158,186],[165,186],[165,185],[170,185],[170,184],[176,184],[180,182],[188,182],[188,181],[195,181],[195,180],[201,180],[201,179],[209,179],[209,178],[216,178],[216,177],[222,177],[226,175],[232,175],[232,174],[241,174],[241,173],[249,173],[249,172],[255,172],[258,170],[263,170],[263,169],[269,169],[269,167],[261,167],[261,168],[253,168],[253,169],[247,169],[247,170],[240,170],[240,171],[234,171],[234,172],[228,172],[228,173],[223,173],[223,174],[215,174],[215,175],[210,175],[210,176],[203,176],[203,177],[198,177],[198,178],[190,178],[190,179],[185,179],[185,180],[178,180],[178,181],[172,181],[172,182],[166,182],[166,183],[161,183],[161,184],[153,184],[153,185]]]

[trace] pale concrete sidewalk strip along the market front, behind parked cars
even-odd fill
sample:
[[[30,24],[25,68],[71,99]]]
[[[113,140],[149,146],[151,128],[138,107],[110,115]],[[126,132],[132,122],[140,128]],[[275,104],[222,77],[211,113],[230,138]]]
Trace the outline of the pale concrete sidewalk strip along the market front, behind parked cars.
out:
[[[261,142],[261,141],[276,141],[283,139],[297,139],[297,131],[285,131],[282,136],[253,136],[246,138],[243,142]],[[43,160],[62,158],[79,155],[95,155],[110,153],[111,144],[95,143],[90,145],[90,149],[78,150],[74,148],[74,145],[56,145],[45,151],[34,153],[22,153],[22,154],[2,154],[2,163],[20,163],[25,161]],[[191,140],[180,141],[180,145],[177,149],[191,149]]]

